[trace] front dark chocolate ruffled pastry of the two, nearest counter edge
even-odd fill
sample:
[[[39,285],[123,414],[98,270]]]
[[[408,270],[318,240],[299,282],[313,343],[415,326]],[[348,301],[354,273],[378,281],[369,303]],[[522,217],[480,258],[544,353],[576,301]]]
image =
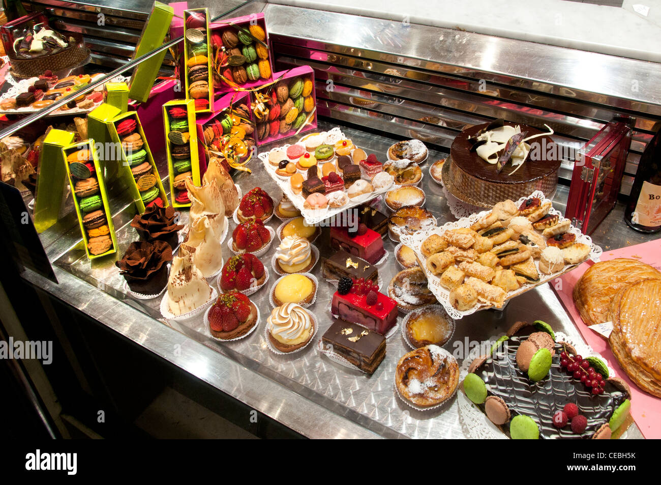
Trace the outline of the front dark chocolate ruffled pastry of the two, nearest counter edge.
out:
[[[129,245],[115,265],[132,291],[151,295],[166,287],[167,263],[172,259],[172,247],[167,242],[138,241]]]

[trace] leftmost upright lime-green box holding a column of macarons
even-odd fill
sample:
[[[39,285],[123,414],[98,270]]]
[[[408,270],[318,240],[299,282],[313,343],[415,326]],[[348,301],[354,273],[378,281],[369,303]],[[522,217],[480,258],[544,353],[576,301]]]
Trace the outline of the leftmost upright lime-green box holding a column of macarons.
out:
[[[108,206],[108,194],[100,172],[94,140],[85,140],[62,148],[67,161],[67,177],[85,251],[95,259],[117,251],[117,238]]]

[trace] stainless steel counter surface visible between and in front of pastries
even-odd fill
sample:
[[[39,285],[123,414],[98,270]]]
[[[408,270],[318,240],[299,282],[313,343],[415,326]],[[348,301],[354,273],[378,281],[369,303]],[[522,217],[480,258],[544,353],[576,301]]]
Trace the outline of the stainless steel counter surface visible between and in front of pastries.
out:
[[[332,126],[327,122],[321,123],[324,129]],[[395,141],[387,136],[354,128],[343,127],[343,130],[354,143],[366,148],[368,152],[374,152],[380,159],[385,158],[387,147]],[[281,144],[287,141],[283,140]],[[269,148],[265,147],[264,150]],[[430,150],[428,163],[445,155]],[[162,159],[160,163],[163,163]],[[239,175],[237,183],[244,193],[252,187],[260,186],[273,193],[277,202],[279,194],[275,193],[274,181],[259,169],[258,161],[252,162],[252,166],[253,174]],[[438,218],[438,222],[442,224],[451,219],[441,187],[431,181],[430,177],[425,177],[422,188],[427,194],[427,208]],[[560,210],[564,210],[566,195],[566,187],[560,187],[555,202]],[[114,224],[120,239],[118,257],[128,243],[137,240],[136,232],[127,226],[133,213],[132,205],[117,208]],[[622,215],[623,206],[618,204],[593,235],[594,241],[604,249],[610,249],[653,238],[629,229]],[[274,218],[269,224],[276,228],[280,222]],[[230,231],[234,226],[231,222]],[[114,267],[115,259],[109,257],[104,261],[89,263],[79,247],[80,234],[76,230],[69,231],[61,238],[52,238],[52,241],[47,251],[51,261],[54,261],[59,285],[26,272],[24,277],[28,281],[141,345],[145,350],[307,437],[464,436],[454,399],[440,410],[423,413],[411,410],[395,396],[395,365],[399,357],[408,351],[399,333],[388,339],[386,358],[373,376],[332,363],[319,355],[313,345],[301,353],[285,357],[270,353],[263,332],[266,316],[270,312],[268,292],[275,280],[273,272],[268,285],[251,296],[262,314],[259,328],[241,341],[219,343],[206,334],[202,316],[189,322],[166,322],[159,315],[160,298],[144,302],[124,294],[122,278]],[[315,244],[322,255],[326,253],[327,242],[317,240]],[[387,238],[384,244],[392,255],[394,244]],[[270,267],[270,258],[275,249],[274,243],[262,257],[267,267]],[[320,268],[319,264],[315,267],[316,275],[320,275]],[[393,258],[379,266],[379,274],[385,285],[397,271],[399,267]],[[319,318],[317,337],[321,337],[331,324],[329,300],[332,291],[334,288],[320,278],[317,302],[311,307]],[[489,310],[460,320],[453,341],[446,348],[459,353],[466,341],[470,346],[472,342],[498,337],[515,320],[530,319],[545,320],[555,330],[580,339],[553,290],[543,285],[512,300],[502,312]],[[628,435],[640,437],[637,429],[631,429]]]

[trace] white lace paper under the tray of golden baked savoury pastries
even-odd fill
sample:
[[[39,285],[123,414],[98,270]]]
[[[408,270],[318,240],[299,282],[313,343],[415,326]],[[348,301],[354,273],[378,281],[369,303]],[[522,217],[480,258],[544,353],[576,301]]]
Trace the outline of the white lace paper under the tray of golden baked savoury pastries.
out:
[[[551,200],[547,199],[544,197],[544,194],[541,193],[541,191],[535,191],[531,195],[527,197],[522,197],[518,201],[516,201],[516,206],[520,206],[525,199],[530,198],[530,197],[539,197],[541,200],[541,204],[544,204],[545,202],[551,202]],[[434,296],[436,296],[436,299],[440,304],[444,306],[446,309],[447,314],[451,317],[454,318],[455,320],[460,320],[461,318],[473,314],[475,312],[478,312],[480,310],[486,310],[488,308],[493,308],[492,304],[486,304],[483,302],[477,302],[473,308],[469,308],[469,310],[457,310],[454,308],[450,302],[449,302],[449,290],[447,288],[442,287],[440,283],[440,275],[432,275],[430,271],[427,270],[426,265],[422,263],[423,261],[426,261],[426,257],[422,255],[420,252],[420,246],[426,240],[429,236],[432,234],[439,234],[442,235],[444,232],[450,229],[458,229],[458,228],[468,228],[475,224],[480,218],[485,216],[491,212],[490,210],[483,210],[482,212],[477,212],[475,214],[471,214],[468,217],[463,217],[455,222],[447,222],[443,226],[427,230],[427,231],[420,231],[416,232],[415,234],[411,235],[403,235],[400,237],[400,240],[402,243],[410,247],[416,257],[418,258],[418,263],[420,263],[420,267],[422,268],[422,271],[424,271],[427,281],[429,282],[429,288],[432,290],[432,293],[434,293]],[[561,212],[558,210],[555,210],[553,207],[551,207],[551,210],[549,210],[549,214],[557,214],[559,216],[559,221],[562,222],[564,220],[563,215]],[[537,231],[540,232],[540,231]],[[575,228],[574,226],[570,226],[568,232],[572,234],[576,234],[576,243],[584,243],[590,247],[590,255],[588,255],[588,259],[592,259],[592,261],[599,261],[601,255],[602,255],[602,248],[596,244],[592,243],[592,238],[590,236],[586,236],[578,228]],[[544,275],[543,273],[539,272],[539,259],[534,259],[535,261],[535,267],[537,267],[537,272],[539,273],[539,281],[536,281],[535,283],[525,283],[522,285],[522,287],[518,288],[518,290],[513,290],[513,291],[508,291],[506,296],[505,296],[505,302],[503,306],[508,302],[508,300],[515,298],[516,296],[519,296],[520,294],[523,294],[535,287],[538,287],[539,285],[543,285],[544,283],[548,283],[549,281],[553,281],[560,275],[563,275],[563,273],[566,273],[567,271],[571,271],[574,269],[578,264],[575,265],[565,265],[562,271],[557,271],[556,273],[551,273],[550,275]],[[582,261],[581,261],[582,262]]]

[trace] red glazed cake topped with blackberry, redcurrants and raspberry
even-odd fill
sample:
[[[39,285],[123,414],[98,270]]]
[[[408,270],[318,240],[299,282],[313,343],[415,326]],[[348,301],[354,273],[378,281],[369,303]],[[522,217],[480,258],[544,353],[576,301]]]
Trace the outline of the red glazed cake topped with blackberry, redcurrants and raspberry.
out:
[[[373,281],[353,281],[342,277],[332,296],[331,312],[385,335],[397,322],[397,302],[379,292]]]

